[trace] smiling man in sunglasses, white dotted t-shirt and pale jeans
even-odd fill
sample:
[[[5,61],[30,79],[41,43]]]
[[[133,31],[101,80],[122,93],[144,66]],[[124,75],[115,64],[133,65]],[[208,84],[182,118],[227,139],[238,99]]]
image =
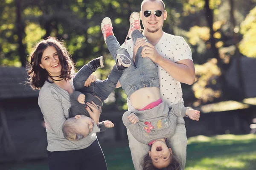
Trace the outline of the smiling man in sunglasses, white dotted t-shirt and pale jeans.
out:
[[[149,57],[158,68],[160,79],[160,94],[164,102],[172,107],[174,104],[183,105],[180,82],[192,85],[195,81],[195,67],[192,61],[191,50],[183,37],[163,32],[163,21],[167,18],[167,11],[162,0],[143,0],[141,4],[140,19],[144,27],[144,36],[151,42],[132,40],[125,43],[130,56],[140,46],[144,46],[142,57]],[[138,19],[139,20],[139,19]],[[124,45],[124,44],[123,44]],[[133,110],[128,99],[128,109]],[[183,117],[178,117],[174,136],[168,140],[170,147],[179,157],[183,169],[186,164],[186,128]],[[127,129],[129,147],[135,170],[141,170],[140,161],[146,153],[148,146],[138,142]]]

